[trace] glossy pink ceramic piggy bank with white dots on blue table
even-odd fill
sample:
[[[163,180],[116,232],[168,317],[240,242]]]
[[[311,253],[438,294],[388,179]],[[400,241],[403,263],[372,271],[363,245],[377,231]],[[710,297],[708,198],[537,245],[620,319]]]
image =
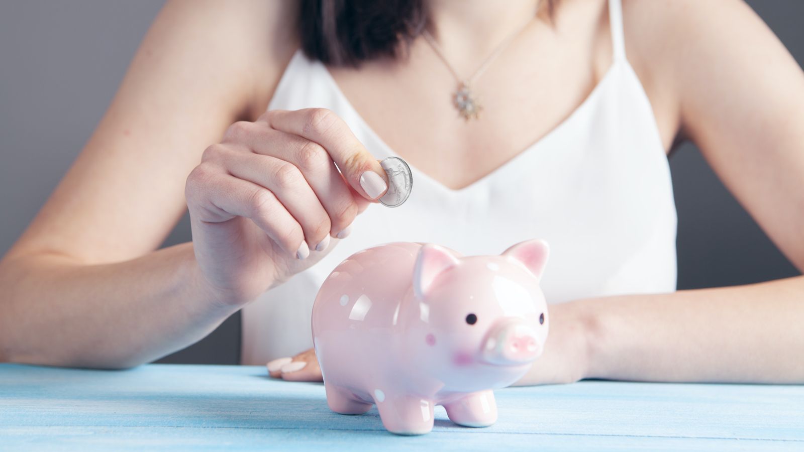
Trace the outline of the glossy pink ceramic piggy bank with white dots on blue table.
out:
[[[428,433],[435,405],[458,425],[494,424],[492,390],[519,380],[548,335],[547,259],[541,240],[499,256],[409,242],[353,254],[313,306],[327,405],[362,414],[375,404],[394,434]]]

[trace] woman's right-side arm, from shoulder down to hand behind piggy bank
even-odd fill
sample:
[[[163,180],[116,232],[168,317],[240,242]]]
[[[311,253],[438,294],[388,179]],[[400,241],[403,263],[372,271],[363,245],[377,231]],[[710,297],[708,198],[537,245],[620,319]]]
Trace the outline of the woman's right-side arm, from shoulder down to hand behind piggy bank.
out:
[[[801,68],[742,2],[626,6],[630,60],[646,62],[663,97],[679,100],[683,136],[804,269]],[[804,383],[804,277],[580,300],[551,314],[545,354],[520,384]]]

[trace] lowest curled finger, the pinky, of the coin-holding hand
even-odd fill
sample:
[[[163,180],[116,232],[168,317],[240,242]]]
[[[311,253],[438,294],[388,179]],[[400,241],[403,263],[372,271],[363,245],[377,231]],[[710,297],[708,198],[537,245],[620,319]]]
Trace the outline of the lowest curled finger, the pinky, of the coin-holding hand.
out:
[[[198,220],[222,223],[244,216],[287,253],[299,258],[310,254],[301,225],[265,187],[202,163],[187,178],[186,195]]]

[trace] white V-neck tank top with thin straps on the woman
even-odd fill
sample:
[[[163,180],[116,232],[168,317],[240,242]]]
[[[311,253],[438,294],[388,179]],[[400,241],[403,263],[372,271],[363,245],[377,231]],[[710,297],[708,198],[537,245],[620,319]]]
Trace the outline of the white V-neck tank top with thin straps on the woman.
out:
[[[415,166],[399,208],[372,204],[330,253],[244,307],[244,364],[313,346],[318,288],[341,261],[392,241],[432,242],[464,255],[550,244],[548,302],[675,290],[676,212],[667,155],[650,101],[626,60],[620,0],[609,1],[613,64],[589,97],[544,138],[470,186],[453,190]],[[396,156],[355,111],[330,72],[301,51],[269,109],[323,107],[342,117],[375,158]]]

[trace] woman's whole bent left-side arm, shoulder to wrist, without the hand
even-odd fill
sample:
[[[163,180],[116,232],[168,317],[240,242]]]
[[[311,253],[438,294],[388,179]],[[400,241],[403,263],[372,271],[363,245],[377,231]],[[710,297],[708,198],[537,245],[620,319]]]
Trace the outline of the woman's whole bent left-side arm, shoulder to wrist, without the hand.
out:
[[[293,2],[168,2],[109,110],[0,261],[0,360],[126,367],[206,335],[235,310],[191,244],[152,253],[187,208],[187,175],[265,110]],[[57,117],[43,112],[42,127]]]

